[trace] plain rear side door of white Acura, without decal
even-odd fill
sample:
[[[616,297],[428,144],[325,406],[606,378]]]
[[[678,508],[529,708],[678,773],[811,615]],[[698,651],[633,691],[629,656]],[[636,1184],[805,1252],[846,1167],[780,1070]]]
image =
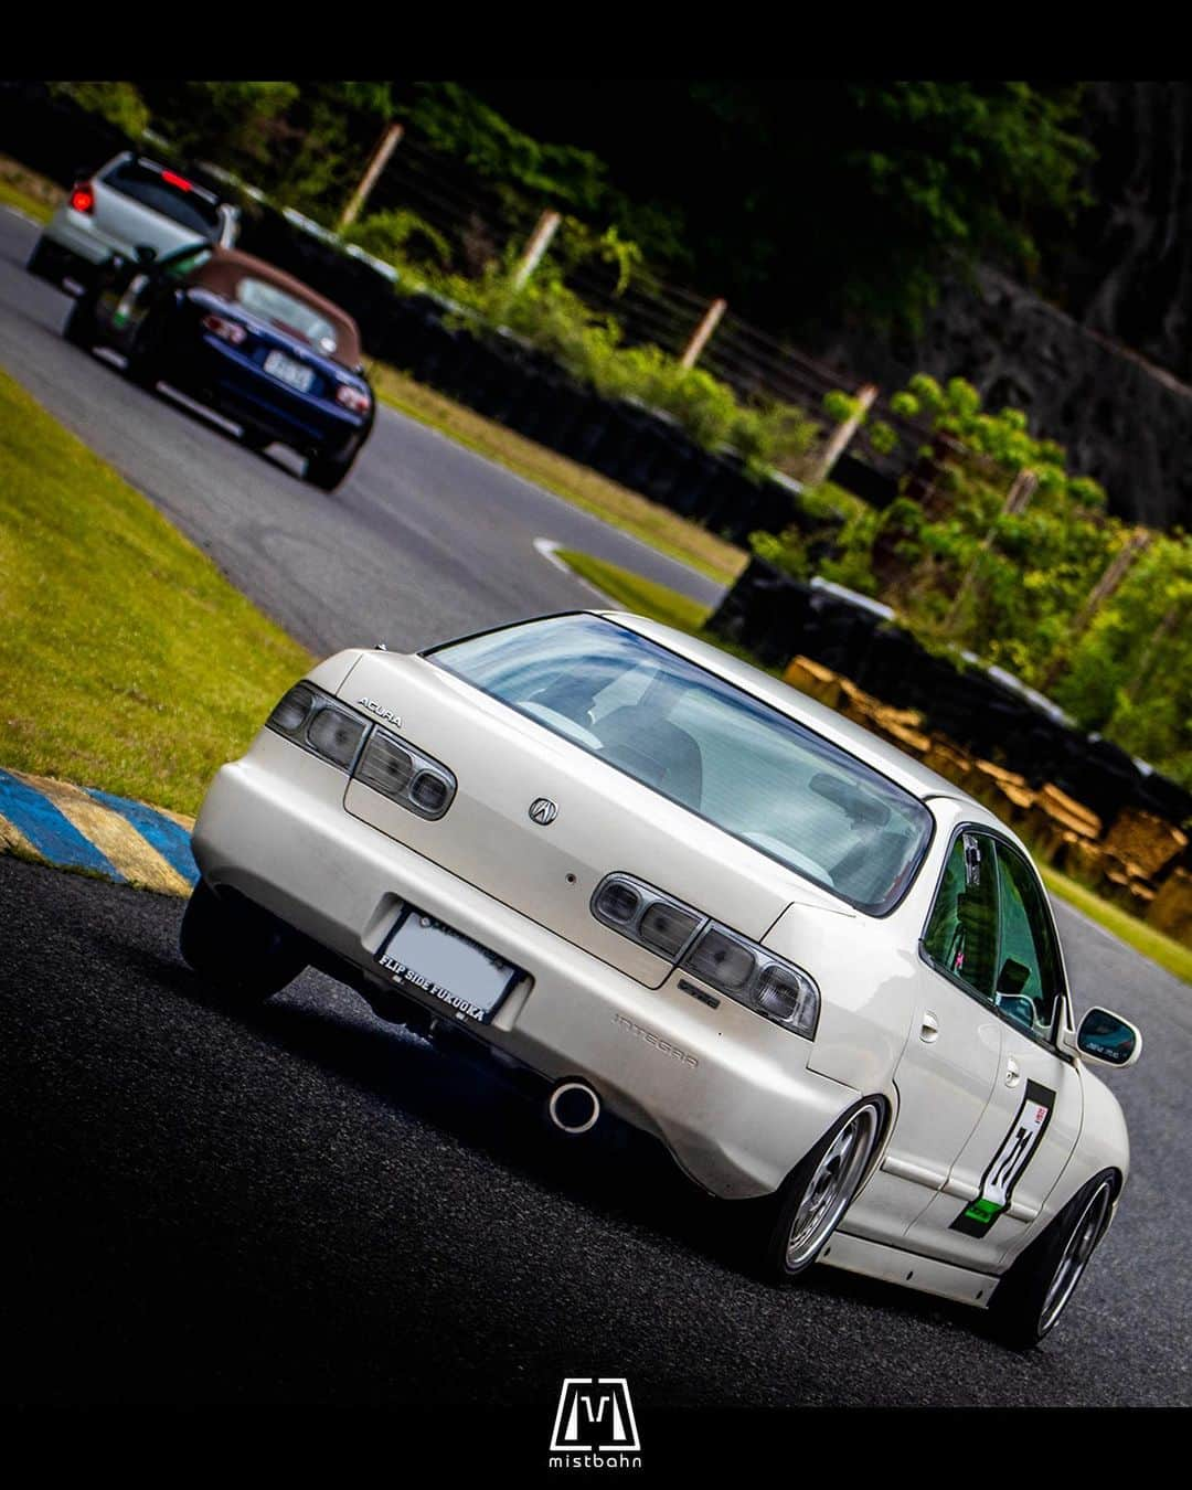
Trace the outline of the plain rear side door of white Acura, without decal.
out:
[[[894,1131],[846,1219],[849,1232],[897,1246],[933,1196],[966,1173],[970,1138],[1004,1070],[1006,1024],[994,1006],[997,858],[982,828],[955,834],[919,952],[894,1074]]]

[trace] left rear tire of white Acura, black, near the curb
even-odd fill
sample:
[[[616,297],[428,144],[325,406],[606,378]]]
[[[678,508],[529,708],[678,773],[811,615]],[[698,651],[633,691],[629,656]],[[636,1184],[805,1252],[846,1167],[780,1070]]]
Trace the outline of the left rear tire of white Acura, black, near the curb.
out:
[[[179,949],[198,976],[241,1004],[259,1004],[307,966],[307,945],[241,895],[216,895],[200,879],[186,903]]]

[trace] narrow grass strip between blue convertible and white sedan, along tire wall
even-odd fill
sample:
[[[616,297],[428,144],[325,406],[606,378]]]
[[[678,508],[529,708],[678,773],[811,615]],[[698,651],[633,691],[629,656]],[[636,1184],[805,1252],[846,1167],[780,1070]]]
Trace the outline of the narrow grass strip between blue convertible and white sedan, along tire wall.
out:
[[[712,580],[730,584],[749,560],[744,550],[699,523],[690,523],[678,513],[609,481],[599,471],[526,440],[395,368],[374,364],[370,377],[380,398],[402,414],[438,429],[456,444],[544,486],[572,507],[633,533],[659,553],[679,559]]]

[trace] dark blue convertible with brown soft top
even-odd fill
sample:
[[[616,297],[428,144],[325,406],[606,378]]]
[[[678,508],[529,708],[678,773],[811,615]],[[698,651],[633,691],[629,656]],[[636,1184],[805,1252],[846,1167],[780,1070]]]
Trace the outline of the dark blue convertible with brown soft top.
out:
[[[197,243],[164,258],[113,256],[74,301],[63,334],[122,352],[145,387],[170,383],[240,425],[307,457],[325,492],[343,481],[368,438],[374,399],[361,334],[338,305],[282,270]]]

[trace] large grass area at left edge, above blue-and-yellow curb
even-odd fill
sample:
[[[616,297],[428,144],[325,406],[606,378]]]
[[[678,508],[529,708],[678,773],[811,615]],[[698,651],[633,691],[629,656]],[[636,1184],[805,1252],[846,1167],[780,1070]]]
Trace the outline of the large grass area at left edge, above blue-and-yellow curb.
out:
[[[0,372],[0,764],[195,812],[310,657]]]

